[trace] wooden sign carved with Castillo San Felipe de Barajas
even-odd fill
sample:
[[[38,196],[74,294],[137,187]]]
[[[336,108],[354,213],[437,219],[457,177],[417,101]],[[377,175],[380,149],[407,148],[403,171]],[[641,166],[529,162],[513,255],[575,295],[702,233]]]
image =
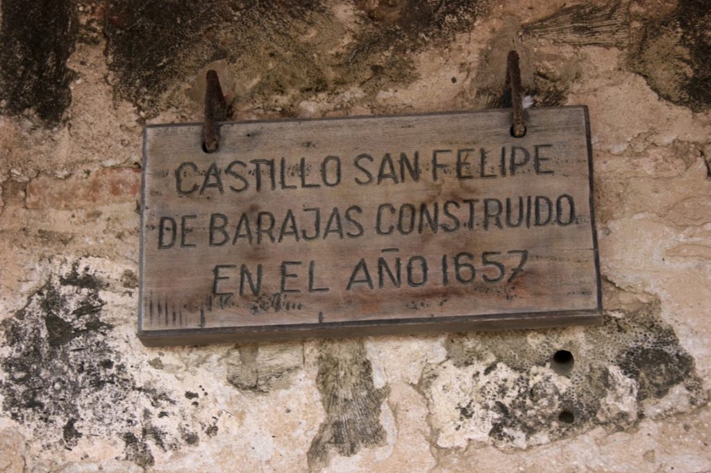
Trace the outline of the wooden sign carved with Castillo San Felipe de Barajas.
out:
[[[600,317],[586,107],[146,127],[149,346]]]

